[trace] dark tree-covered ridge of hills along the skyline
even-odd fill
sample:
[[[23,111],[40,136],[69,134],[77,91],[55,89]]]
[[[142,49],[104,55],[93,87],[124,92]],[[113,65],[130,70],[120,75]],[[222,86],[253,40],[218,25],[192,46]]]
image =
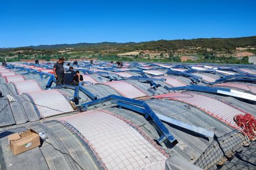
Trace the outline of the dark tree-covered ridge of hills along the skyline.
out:
[[[126,47],[131,50],[153,50],[168,51],[169,49],[188,49],[190,47],[202,47],[216,50],[233,50],[236,47],[256,46],[256,36],[242,38],[198,38],[198,39],[177,39],[177,40],[158,40],[147,42],[99,42],[99,43],[77,43],[77,44],[56,44],[28,46],[20,48],[31,49],[65,49],[65,48],[98,48],[98,47]]]

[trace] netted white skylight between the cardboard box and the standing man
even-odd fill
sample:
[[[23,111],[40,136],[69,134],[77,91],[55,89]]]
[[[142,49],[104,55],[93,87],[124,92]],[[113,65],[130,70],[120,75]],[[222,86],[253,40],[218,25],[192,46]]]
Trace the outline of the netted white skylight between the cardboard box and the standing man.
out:
[[[57,90],[27,92],[40,113],[40,118],[73,111],[65,97]]]

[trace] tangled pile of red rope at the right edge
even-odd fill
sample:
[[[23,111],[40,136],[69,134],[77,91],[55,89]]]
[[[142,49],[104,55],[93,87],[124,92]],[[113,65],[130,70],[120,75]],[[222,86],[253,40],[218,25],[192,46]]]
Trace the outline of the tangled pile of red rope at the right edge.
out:
[[[236,121],[237,126],[241,127],[244,134],[249,137],[249,139],[254,140],[256,137],[256,119],[249,113],[245,115],[234,116],[234,121]]]

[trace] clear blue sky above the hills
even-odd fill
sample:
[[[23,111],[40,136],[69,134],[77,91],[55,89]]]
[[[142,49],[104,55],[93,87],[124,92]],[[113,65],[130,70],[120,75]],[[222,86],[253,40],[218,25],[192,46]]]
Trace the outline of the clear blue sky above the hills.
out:
[[[0,47],[256,35],[256,1],[0,2]]]

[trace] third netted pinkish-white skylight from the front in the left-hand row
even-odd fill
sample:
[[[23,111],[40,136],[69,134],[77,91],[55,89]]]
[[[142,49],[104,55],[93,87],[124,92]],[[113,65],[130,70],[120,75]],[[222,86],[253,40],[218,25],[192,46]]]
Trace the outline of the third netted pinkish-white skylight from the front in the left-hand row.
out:
[[[15,81],[13,82],[13,84],[18,94],[34,92],[34,91],[43,91],[40,85],[34,79],[24,80],[24,81]]]

